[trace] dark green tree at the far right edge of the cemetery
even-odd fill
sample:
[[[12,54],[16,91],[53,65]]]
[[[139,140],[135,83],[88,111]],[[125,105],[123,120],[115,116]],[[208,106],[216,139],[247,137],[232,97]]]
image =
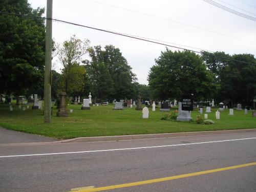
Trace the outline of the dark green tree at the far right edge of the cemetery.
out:
[[[221,99],[250,105],[256,95],[256,59],[251,54],[233,55],[232,59],[220,74]]]

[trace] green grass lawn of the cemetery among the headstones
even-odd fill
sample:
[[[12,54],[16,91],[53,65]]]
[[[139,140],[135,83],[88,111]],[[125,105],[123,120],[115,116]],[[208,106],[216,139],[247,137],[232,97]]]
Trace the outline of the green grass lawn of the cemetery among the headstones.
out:
[[[45,124],[42,111],[32,110],[31,106],[29,110],[22,111],[13,104],[13,111],[9,111],[9,105],[0,104],[0,126],[58,139],[256,128],[256,118],[252,117],[251,112],[244,115],[244,111],[234,110],[234,116],[229,116],[229,110],[225,110],[221,112],[221,119],[217,120],[216,109],[211,109],[208,119],[214,120],[215,124],[202,125],[196,124],[195,121],[160,120],[165,112],[160,112],[159,108],[155,112],[151,108],[150,119],[142,119],[142,112],[136,111],[135,108],[119,111],[112,110],[113,105],[91,106],[91,110],[81,110],[81,105],[69,105],[68,109],[73,109],[73,113],[69,113],[66,118],[56,116],[55,106],[52,122]],[[192,112],[193,119],[196,119],[197,115],[199,112],[195,109]]]

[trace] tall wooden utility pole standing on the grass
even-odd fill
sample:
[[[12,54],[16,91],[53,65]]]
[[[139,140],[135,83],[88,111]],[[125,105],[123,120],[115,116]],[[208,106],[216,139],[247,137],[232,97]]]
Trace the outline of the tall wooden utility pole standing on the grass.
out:
[[[51,87],[52,87],[52,0],[47,0],[46,12],[46,53],[45,53],[45,123],[51,122]]]

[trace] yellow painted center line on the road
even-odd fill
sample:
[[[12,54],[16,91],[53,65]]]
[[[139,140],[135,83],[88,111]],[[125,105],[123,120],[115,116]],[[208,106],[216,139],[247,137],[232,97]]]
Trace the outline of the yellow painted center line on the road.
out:
[[[170,180],[174,180],[174,179],[181,179],[181,178],[186,178],[186,177],[222,172],[223,170],[230,170],[230,169],[242,168],[242,167],[253,166],[253,165],[256,165],[256,162],[235,165],[235,166],[229,166],[229,167],[223,167],[223,168],[216,168],[216,169],[211,169],[211,170],[204,170],[202,172],[195,172],[195,173],[190,173],[190,174],[164,177],[164,178],[159,178],[159,179],[138,181],[138,182],[132,182],[132,183],[124,183],[124,184],[119,184],[119,185],[110,185],[110,186],[98,187],[98,188],[92,188],[92,189],[82,189],[82,190],[77,190],[77,192],[89,192],[89,191],[92,192],[92,191],[102,191],[102,190],[111,190],[111,189],[116,189],[116,188],[132,187],[132,186],[158,183],[158,182],[170,181]]]

